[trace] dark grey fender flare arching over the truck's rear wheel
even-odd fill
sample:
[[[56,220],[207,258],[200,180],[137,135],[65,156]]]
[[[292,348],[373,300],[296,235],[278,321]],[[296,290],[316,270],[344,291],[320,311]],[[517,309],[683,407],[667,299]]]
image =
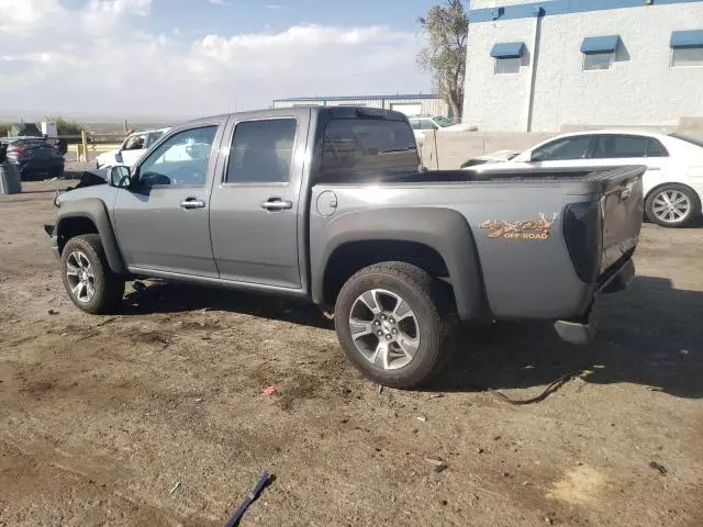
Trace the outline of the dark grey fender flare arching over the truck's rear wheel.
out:
[[[334,251],[347,243],[398,240],[423,244],[434,249],[449,271],[459,318],[483,318],[488,301],[473,234],[457,211],[438,208],[388,208],[362,210],[334,217],[323,229],[323,251],[313,262],[312,296],[320,303],[324,277]]]

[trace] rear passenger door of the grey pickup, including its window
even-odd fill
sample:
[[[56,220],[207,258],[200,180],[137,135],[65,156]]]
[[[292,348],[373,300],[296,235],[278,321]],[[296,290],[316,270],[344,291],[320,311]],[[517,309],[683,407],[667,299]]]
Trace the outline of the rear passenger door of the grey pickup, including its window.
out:
[[[227,124],[210,206],[220,278],[300,289],[299,202],[310,109]],[[304,224],[303,224],[304,225]]]

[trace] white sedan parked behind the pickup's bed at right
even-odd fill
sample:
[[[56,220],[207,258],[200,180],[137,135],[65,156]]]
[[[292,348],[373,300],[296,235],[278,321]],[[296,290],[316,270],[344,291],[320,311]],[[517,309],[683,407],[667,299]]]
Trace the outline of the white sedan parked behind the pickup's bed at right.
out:
[[[468,164],[465,164],[468,165]],[[644,165],[645,213],[665,227],[689,225],[701,214],[703,141],[683,134],[605,130],[559,135],[503,162],[465,166],[520,169]]]

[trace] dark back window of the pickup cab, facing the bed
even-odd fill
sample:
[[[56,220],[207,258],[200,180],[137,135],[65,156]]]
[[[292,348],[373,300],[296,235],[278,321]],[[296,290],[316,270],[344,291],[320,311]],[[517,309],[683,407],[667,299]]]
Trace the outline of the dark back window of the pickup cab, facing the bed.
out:
[[[333,119],[327,123],[320,173],[324,180],[406,173],[419,166],[415,136],[404,121]]]

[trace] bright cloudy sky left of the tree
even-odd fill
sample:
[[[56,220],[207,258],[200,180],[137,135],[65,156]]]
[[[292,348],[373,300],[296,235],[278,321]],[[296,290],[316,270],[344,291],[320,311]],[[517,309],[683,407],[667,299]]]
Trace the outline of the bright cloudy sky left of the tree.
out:
[[[0,0],[0,114],[199,116],[427,93],[440,0]]]

